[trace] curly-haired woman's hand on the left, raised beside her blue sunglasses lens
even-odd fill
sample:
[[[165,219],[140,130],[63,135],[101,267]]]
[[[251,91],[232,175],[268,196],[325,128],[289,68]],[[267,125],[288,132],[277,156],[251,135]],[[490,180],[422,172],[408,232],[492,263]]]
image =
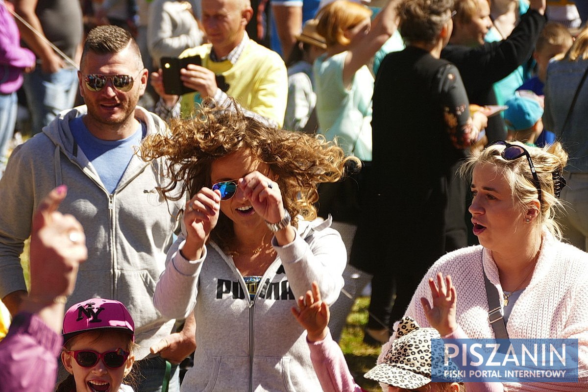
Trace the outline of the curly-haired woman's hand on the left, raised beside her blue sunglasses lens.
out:
[[[183,223],[186,228],[186,243],[181,252],[188,260],[198,260],[212,229],[218,222],[220,192],[203,187],[186,203]]]

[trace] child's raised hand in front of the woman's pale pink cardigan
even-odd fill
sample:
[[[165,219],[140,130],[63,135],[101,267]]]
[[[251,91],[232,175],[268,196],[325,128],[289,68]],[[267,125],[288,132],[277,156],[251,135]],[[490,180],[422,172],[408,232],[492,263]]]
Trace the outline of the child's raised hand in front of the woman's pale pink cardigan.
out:
[[[439,287],[437,287],[439,286]],[[443,274],[437,274],[437,284],[433,278],[429,278],[429,287],[433,297],[433,307],[430,306],[429,301],[422,297],[420,303],[425,311],[425,317],[433,328],[435,328],[441,336],[449,335],[457,329],[457,322],[455,319],[457,307],[457,292],[451,281],[451,276],[443,279]]]

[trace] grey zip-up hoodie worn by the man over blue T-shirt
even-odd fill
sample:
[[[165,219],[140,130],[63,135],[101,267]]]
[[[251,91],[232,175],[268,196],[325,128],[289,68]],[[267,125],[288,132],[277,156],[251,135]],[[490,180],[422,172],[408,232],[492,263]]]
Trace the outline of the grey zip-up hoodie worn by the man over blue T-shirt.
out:
[[[185,200],[166,203],[155,189],[166,183],[161,161],[146,163],[136,155],[109,194],[69,130],[69,120],[85,114],[86,106],[60,113],[12,152],[0,180],[0,297],[26,290],[19,255],[33,212],[63,183],[68,195],[59,211],[82,223],[88,246],[88,260],[80,265],[66,306],[92,297],[124,303],[135,321],[140,346],[135,356],[140,360],[172,330],[174,320],[163,317],[152,298],[178,225],[175,216]],[[143,108],[136,108],[135,118],[145,123],[148,135],[166,129]]]

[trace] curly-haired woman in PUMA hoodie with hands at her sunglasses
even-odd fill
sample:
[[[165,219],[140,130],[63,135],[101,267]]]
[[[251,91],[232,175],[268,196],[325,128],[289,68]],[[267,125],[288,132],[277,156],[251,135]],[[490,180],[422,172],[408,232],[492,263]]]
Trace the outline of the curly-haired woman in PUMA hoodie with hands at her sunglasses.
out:
[[[192,195],[154,297],[168,317],[196,317],[182,389],[320,390],[290,307],[313,280],[328,303],[343,286],[345,246],[329,220],[315,221],[313,203],[316,186],[356,158],[322,136],[204,107],[146,139],[142,155],[168,156],[163,195]]]

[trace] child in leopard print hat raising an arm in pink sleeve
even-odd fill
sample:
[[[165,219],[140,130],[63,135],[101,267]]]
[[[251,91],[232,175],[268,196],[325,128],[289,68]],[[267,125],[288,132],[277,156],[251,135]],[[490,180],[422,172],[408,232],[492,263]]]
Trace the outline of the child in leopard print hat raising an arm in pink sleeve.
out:
[[[316,282],[312,290],[298,299],[292,308],[296,320],[306,329],[310,359],[325,392],[365,392],[353,380],[345,357],[329,331],[329,306],[321,300]],[[433,310],[435,307],[433,307]],[[431,382],[431,340],[439,339],[434,328],[421,328],[405,317],[398,323],[394,340],[387,343],[383,363],[365,374],[379,381],[384,392],[502,392],[500,383],[433,383]],[[425,351],[429,356],[422,359]]]

